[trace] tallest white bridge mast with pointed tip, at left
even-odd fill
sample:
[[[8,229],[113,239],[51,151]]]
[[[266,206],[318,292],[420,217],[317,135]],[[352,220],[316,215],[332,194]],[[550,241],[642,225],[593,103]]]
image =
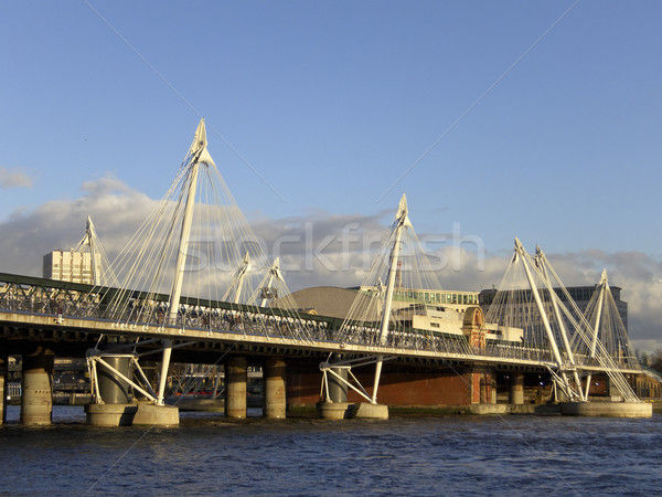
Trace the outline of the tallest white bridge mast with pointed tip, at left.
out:
[[[170,293],[170,304],[168,310],[168,322],[177,324],[180,298],[182,294],[182,284],[184,277],[184,265],[186,263],[186,252],[189,248],[189,237],[191,234],[191,224],[193,222],[193,207],[195,205],[195,190],[197,188],[197,170],[201,162],[214,165],[210,152],[206,149],[206,130],[204,118],[200,119],[193,142],[189,149],[189,192],[186,195],[186,205],[184,208],[184,216],[182,219],[182,231],[180,236],[179,252],[177,254],[177,264],[174,267],[174,281]],[[159,394],[157,404],[163,404],[166,392],[166,380],[168,378],[168,368],[170,367],[170,356],[172,355],[172,340],[163,340],[163,360],[161,363],[161,378],[159,381]]]

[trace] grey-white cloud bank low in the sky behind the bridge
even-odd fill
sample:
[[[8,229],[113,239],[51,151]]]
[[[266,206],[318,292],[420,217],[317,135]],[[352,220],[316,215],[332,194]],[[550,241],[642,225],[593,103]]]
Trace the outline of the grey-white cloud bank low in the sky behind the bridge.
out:
[[[3,178],[1,175],[2,170]],[[113,260],[157,202],[117,178],[105,177],[84,183],[77,199],[18,210],[0,221],[0,272],[41,276],[43,255],[76,246],[87,215]],[[366,275],[371,250],[378,246],[394,214],[335,215],[318,211],[284,219],[259,218],[252,221],[252,228],[269,257],[280,257],[291,290],[318,285],[349,287],[360,285]],[[446,289],[498,287],[512,255],[510,248],[490,251],[481,246],[480,236],[460,235],[458,226],[447,234],[418,235]],[[634,347],[662,347],[661,261],[642,252],[600,250],[546,255],[567,286],[594,285],[606,267],[610,284],[621,287],[621,298],[628,302],[628,327]]]

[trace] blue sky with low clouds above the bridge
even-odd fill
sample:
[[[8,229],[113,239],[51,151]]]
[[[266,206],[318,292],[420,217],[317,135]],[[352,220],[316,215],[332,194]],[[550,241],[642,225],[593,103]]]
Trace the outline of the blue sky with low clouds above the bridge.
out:
[[[359,284],[342,233],[378,239],[406,193],[445,288],[499,285],[517,236],[567,285],[606,267],[662,347],[661,24],[658,1],[1,1],[0,272],[41,275],[88,214],[119,250],[204,117],[290,288]]]

